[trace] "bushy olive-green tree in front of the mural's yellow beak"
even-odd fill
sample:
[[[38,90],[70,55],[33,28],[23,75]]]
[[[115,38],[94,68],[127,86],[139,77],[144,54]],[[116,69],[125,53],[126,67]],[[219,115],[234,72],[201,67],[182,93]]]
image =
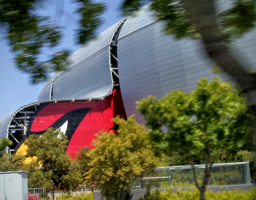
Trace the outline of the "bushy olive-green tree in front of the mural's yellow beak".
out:
[[[76,164],[65,153],[67,143],[66,136],[52,128],[41,137],[30,135],[24,142],[28,147],[27,156],[37,157],[35,167],[40,168],[48,183],[51,181],[51,187],[72,190],[81,183],[81,178]]]

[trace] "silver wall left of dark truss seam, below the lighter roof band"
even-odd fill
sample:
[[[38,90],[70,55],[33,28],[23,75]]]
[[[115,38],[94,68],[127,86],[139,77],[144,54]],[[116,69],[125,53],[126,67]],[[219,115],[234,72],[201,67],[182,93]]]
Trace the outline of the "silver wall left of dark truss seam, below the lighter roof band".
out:
[[[53,83],[53,99],[100,98],[111,88],[108,47],[105,47],[57,76]]]

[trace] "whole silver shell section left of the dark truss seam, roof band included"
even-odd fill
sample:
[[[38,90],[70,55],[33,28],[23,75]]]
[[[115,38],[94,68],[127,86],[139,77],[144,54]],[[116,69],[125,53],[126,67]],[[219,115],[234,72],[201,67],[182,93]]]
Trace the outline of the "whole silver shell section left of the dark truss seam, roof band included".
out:
[[[70,55],[67,70],[51,75],[38,101],[49,99],[47,95],[50,94],[53,79],[53,99],[104,97],[112,84],[107,46],[119,22]]]

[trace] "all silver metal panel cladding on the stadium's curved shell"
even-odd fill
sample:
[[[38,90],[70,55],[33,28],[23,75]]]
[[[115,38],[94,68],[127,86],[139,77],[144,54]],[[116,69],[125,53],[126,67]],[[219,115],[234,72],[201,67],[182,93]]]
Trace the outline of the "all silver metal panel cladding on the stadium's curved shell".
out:
[[[230,6],[228,0],[216,2],[219,11]],[[143,118],[136,110],[135,101],[147,95],[160,98],[174,89],[193,90],[201,77],[215,76],[214,62],[208,58],[201,40],[178,40],[164,34],[165,23],[156,20],[149,6],[126,19],[117,40],[118,75],[125,112],[127,116],[135,113],[140,123]],[[53,99],[64,100],[102,98],[109,94],[112,80],[108,45],[118,23],[73,53],[68,69],[51,76],[38,101],[49,100],[51,89]],[[256,70],[256,29],[237,38],[229,47],[245,68]],[[218,76],[231,81],[221,69]],[[0,119],[0,138],[5,137],[10,118],[8,115]]]

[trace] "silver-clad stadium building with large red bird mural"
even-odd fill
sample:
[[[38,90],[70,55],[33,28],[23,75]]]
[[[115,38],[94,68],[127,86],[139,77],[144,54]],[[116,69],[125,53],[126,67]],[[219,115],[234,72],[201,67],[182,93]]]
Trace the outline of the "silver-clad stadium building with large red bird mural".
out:
[[[219,10],[228,1],[219,0]],[[256,69],[256,31],[230,44],[243,66]],[[114,130],[111,118],[136,114],[135,102],[147,95],[162,97],[174,89],[189,91],[201,77],[214,78],[214,63],[202,42],[177,40],[164,34],[164,22],[144,6],[112,25],[69,57],[66,71],[54,73],[45,83],[38,102],[25,105],[0,119],[0,138],[9,138],[15,153],[30,134],[60,128],[69,140],[67,153],[91,147],[100,131]],[[220,71],[224,81],[231,78]]]

